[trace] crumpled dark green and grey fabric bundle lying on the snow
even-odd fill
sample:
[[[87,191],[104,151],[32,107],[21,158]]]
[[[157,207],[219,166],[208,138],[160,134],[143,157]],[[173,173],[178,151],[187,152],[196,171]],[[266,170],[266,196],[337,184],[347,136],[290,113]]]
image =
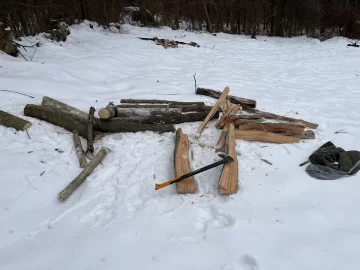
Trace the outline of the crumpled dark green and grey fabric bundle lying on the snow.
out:
[[[345,151],[327,142],[309,157],[311,164],[306,172],[314,178],[335,180],[346,175],[354,175],[360,170],[360,152]]]

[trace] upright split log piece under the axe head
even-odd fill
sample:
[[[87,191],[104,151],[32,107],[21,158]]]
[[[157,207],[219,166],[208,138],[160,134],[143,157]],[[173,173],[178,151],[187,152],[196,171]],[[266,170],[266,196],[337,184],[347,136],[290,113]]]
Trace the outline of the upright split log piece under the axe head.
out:
[[[229,123],[226,139],[226,151],[227,154],[234,159],[234,162],[225,164],[223,167],[218,186],[218,192],[220,195],[235,194],[238,190],[238,160],[235,146],[235,127],[233,123]]]

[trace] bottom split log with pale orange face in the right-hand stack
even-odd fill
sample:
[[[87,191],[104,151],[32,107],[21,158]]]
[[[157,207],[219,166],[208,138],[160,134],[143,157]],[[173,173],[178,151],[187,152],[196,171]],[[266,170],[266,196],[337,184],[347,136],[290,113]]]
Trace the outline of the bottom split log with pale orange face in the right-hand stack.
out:
[[[299,138],[285,136],[261,130],[236,130],[235,138],[244,141],[259,141],[268,143],[298,143]]]

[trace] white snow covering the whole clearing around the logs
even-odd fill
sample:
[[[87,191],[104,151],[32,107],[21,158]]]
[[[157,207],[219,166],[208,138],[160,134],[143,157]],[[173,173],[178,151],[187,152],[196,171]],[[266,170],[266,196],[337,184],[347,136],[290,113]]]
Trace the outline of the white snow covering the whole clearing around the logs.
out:
[[[129,25],[116,33],[87,24],[72,26],[65,43],[28,38],[43,44],[32,61],[0,54],[0,89],[35,96],[0,91],[0,109],[33,124],[31,139],[0,126],[0,269],[359,268],[360,176],[319,181],[298,166],[329,140],[360,150],[359,49],[343,38],[253,40]],[[140,36],[201,47],[164,49]],[[66,202],[57,200],[81,172],[72,135],[23,116],[25,104],[44,95],[85,112],[121,98],[214,104],[194,94],[195,73],[200,87],[229,86],[261,110],[318,123],[316,139],[237,141],[240,190],[226,197],[217,193],[221,168],[197,175],[193,195],[176,194],[174,185],[154,190],[174,176],[175,134],[113,134],[95,144],[112,150],[102,165]],[[199,139],[200,123],[178,125],[189,136],[192,169],[220,159],[214,123]]]

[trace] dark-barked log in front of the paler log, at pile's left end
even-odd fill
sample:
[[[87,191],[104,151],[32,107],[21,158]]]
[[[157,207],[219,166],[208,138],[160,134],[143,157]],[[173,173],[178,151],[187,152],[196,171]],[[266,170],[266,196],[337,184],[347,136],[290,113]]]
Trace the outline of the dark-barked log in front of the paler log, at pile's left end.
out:
[[[53,108],[43,107],[39,105],[27,104],[24,108],[24,115],[49,122],[53,125],[62,127],[69,132],[77,130],[80,136],[84,138],[87,137],[86,124],[76,121],[76,119],[72,118],[70,115],[64,113],[61,110],[55,110]],[[94,132],[95,141],[101,139],[103,136],[104,135],[101,132]]]

